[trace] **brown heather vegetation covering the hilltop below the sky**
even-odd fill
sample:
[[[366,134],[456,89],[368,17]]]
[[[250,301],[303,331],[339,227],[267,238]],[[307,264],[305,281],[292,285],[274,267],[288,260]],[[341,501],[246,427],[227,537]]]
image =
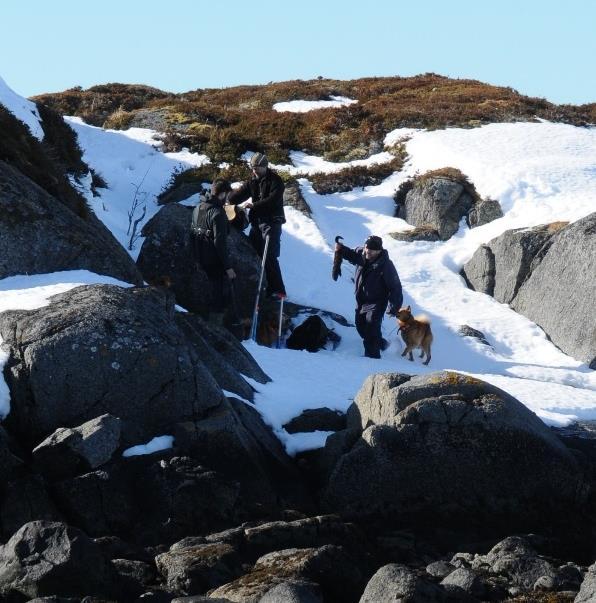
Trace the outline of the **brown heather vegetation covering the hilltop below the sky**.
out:
[[[308,113],[272,109],[276,102],[331,95],[354,98],[358,104]],[[183,94],[106,84],[34,100],[94,125],[165,131],[168,148],[186,146],[207,153],[216,163],[237,161],[247,149],[266,152],[274,163],[287,163],[292,149],[331,161],[361,159],[376,152],[385,134],[398,127],[474,127],[535,117],[585,125],[596,117],[596,105],[558,106],[512,88],[432,73],[350,81],[293,80]]]

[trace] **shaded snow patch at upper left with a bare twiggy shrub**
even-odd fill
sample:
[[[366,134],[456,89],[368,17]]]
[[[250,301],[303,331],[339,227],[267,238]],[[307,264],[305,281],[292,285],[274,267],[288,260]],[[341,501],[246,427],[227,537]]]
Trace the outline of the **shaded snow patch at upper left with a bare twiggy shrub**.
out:
[[[108,188],[100,189],[94,197],[90,180],[81,182],[89,206],[100,220],[112,231],[120,244],[129,250],[136,260],[143,238],[139,237],[132,249],[128,212],[138,201],[133,222],[143,215],[137,232],[159,211],[157,196],[169,184],[171,177],[180,170],[209,163],[206,155],[183,150],[178,153],[162,153],[163,146],[154,130],[130,128],[129,130],[104,130],[85,124],[78,117],[65,118],[76,132],[83,149],[83,160],[100,174]]]

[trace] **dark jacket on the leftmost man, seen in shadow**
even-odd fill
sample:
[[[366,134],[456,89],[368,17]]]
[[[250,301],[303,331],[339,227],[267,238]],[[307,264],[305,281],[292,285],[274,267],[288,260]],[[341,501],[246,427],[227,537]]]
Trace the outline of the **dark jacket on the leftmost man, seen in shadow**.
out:
[[[225,271],[231,267],[228,254],[230,226],[223,207],[208,197],[192,212],[192,233],[197,259],[206,270]]]

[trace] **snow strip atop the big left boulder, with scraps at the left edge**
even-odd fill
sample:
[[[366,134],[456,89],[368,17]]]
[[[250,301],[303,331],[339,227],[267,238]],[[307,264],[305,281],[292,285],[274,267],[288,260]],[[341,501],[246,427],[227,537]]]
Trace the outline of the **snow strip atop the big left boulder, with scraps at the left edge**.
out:
[[[128,283],[87,270],[69,270],[51,274],[17,275],[0,279],[0,312],[6,310],[36,310],[47,306],[52,295],[64,293],[79,285],[104,283],[129,287]],[[2,350],[0,336],[0,375],[8,354]],[[8,385],[0,378],[0,419],[10,412]]]

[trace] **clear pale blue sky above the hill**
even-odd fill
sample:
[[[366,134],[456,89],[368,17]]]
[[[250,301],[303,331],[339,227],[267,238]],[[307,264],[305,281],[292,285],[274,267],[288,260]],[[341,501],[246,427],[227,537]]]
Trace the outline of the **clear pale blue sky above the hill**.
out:
[[[596,102],[592,0],[2,0],[0,76],[30,96],[435,72]]]

